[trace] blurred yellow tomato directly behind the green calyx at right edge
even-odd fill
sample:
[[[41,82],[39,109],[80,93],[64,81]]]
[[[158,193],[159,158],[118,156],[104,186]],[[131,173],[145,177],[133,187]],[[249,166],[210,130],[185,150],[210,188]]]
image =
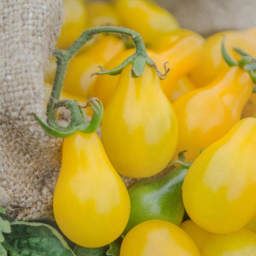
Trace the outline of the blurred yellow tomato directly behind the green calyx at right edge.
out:
[[[211,35],[204,42],[198,65],[190,72],[190,77],[196,86],[203,87],[209,84],[219,73],[229,68],[221,55],[223,35],[226,37],[227,51],[233,59],[241,58],[233,47],[240,47],[250,55],[256,56],[256,39],[246,31],[224,31]]]

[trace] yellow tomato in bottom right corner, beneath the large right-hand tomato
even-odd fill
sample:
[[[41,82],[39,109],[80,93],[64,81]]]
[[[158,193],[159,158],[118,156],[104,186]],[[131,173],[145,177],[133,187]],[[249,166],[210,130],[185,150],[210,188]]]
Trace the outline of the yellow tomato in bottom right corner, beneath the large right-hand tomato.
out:
[[[209,233],[192,221],[180,226],[195,241],[201,256],[256,255],[256,234],[245,228],[221,235]]]

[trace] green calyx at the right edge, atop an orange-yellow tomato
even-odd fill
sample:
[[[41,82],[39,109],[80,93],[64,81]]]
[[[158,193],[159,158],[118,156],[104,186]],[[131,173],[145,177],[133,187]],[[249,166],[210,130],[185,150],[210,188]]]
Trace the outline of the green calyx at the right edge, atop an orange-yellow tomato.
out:
[[[227,49],[225,47],[225,36],[224,36],[222,40],[222,45],[221,45],[222,57],[230,67],[238,66],[241,69],[248,71],[251,79],[253,80],[253,83],[256,84],[256,75],[255,75],[256,59],[250,56],[243,49],[240,49],[239,47],[234,47],[233,49],[242,56],[241,59],[239,59],[239,61],[235,61],[227,52]]]

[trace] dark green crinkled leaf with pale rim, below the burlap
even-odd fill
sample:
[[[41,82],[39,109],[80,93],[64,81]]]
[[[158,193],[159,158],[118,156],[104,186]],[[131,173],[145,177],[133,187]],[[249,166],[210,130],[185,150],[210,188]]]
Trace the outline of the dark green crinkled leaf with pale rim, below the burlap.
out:
[[[33,222],[11,223],[4,247],[11,256],[74,256],[67,242],[53,227]]]

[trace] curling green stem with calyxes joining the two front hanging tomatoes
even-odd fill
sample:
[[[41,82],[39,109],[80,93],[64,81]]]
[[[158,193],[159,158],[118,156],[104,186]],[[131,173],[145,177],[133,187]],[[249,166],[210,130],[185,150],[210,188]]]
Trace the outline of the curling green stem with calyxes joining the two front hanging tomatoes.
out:
[[[102,26],[85,30],[67,50],[54,50],[54,55],[57,59],[57,70],[51,96],[47,104],[47,122],[44,122],[38,117],[38,115],[35,114],[35,119],[37,119],[42,128],[44,128],[44,130],[52,136],[64,138],[73,135],[76,131],[91,133],[99,128],[103,116],[103,107],[99,99],[92,98],[89,99],[87,102],[86,107],[90,105],[94,111],[93,117],[90,122],[85,121],[82,107],[79,105],[78,102],[73,99],[59,101],[62,84],[70,59],[73,58],[74,55],[76,55],[81,47],[83,47],[83,45],[88,40],[90,40],[93,35],[96,35],[98,33],[121,33],[130,36],[135,45],[135,53],[128,57],[124,62],[122,62],[122,64],[120,64],[113,70],[104,70],[103,67],[101,67],[102,72],[96,72],[92,75],[117,75],[121,73],[122,69],[129,63],[133,63],[131,69],[131,76],[133,77],[141,76],[144,72],[146,64],[153,67],[156,70],[158,76],[160,76],[160,78],[162,79],[165,78],[166,74],[169,71],[168,69],[166,69],[166,67],[165,74],[162,74],[159,70],[157,70],[156,64],[147,55],[141,35],[131,29],[125,29],[116,26]],[[57,110],[60,107],[66,108],[71,113],[70,123],[66,127],[58,124],[58,122],[56,122],[55,120]]]

